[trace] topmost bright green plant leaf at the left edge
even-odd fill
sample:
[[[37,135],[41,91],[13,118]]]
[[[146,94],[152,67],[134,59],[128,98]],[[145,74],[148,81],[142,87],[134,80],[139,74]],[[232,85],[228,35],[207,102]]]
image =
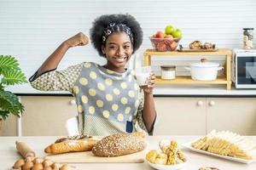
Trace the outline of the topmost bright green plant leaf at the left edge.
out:
[[[18,60],[11,55],[0,55],[0,73],[9,69],[20,70]]]

